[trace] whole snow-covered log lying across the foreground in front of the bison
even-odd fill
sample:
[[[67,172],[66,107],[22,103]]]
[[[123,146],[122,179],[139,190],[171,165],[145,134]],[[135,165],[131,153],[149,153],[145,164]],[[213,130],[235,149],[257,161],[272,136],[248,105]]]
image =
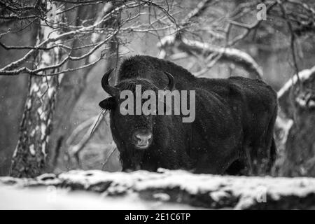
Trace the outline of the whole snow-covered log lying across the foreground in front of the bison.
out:
[[[187,206],[198,209],[315,209],[313,178],[216,176],[165,169],[159,169],[158,173],[73,170],[57,176],[43,174],[35,179],[1,177],[0,183],[3,185],[0,187],[6,189],[0,190],[1,198],[8,186],[10,190],[36,187],[37,191],[41,187],[102,193],[104,209],[113,202],[116,205],[123,202],[123,209],[128,209],[127,202],[130,209],[182,209]],[[43,190],[38,192],[43,194]],[[73,193],[66,195],[73,196]],[[0,207],[5,207],[3,203],[6,202],[1,200]],[[91,206],[94,207],[99,207],[99,201]],[[87,205],[86,209],[89,208]]]

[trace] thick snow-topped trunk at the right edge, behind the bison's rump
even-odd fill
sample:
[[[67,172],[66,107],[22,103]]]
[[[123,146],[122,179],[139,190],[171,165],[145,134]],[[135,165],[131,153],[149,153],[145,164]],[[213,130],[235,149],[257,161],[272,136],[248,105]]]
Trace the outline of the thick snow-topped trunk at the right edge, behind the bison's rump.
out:
[[[300,72],[278,92],[281,114],[277,120],[277,167],[283,176],[315,176],[315,66]]]

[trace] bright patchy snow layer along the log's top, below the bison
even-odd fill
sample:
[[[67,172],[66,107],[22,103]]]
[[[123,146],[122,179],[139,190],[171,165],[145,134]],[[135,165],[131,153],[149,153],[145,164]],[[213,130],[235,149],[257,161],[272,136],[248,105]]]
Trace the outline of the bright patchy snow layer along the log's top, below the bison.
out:
[[[160,170],[161,172],[161,170]],[[126,173],[105,173],[100,171],[71,171],[59,175],[60,179],[75,181],[83,184],[85,188],[91,184],[109,182],[111,186],[107,193],[122,192],[133,189],[141,192],[148,189],[175,189],[179,188],[190,195],[209,193],[213,200],[221,200],[229,194],[235,197],[242,197],[237,209],[248,206],[262,195],[268,194],[276,199],[285,195],[297,195],[303,197],[310,193],[315,193],[315,179],[307,178],[272,178],[266,177],[246,177],[246,176],[215,176],[207,174],[190,174],[185,171],[163,171],[162,174],[137,171],[132,174]],[[263,196],[263,195],[262,195]],[[246,203],[245,203],[246,202]],[[244,204],[245,203],[245,204]]]

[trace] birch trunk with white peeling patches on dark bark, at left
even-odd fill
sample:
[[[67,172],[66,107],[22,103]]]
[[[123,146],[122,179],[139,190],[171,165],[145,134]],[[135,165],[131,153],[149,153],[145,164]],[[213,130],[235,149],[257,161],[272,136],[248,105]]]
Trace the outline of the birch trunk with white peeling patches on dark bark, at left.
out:
[[[58,15],[55,20],[62,21],[64,17]],[[62,30],[53,31],[41,20],[36,37],[37,44],[54,35],[59,35]],[[45,46],[49,48],[56,43],[50,42]],[[38,52],[34,60],[38,68],[58,64],[62,59],[59,48]],[[55,73],[59,68],[52,69]],[[63,74],[59,76],[30,76],[27,100],[20,124],[20,137],[13,153],[11,176],[34,177],[45,169],[48,154],[48,141],[52,130],[52,116],[55,109],[56,93]]]

